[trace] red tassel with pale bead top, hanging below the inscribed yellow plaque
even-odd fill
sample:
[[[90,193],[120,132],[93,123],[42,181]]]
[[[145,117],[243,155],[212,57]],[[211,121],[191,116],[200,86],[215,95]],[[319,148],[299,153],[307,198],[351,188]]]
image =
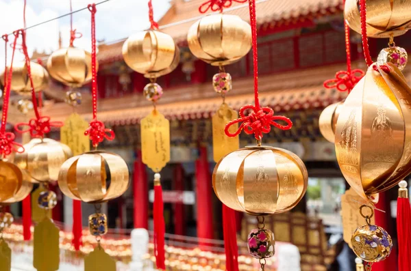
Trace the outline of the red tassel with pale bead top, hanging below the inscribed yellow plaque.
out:
[[[164,251],[164,205],[162,200],[162,187],[160,183],[160,173],[154,174],[154,254],[155,263],[160,270],[166,270],[165,251]]]

